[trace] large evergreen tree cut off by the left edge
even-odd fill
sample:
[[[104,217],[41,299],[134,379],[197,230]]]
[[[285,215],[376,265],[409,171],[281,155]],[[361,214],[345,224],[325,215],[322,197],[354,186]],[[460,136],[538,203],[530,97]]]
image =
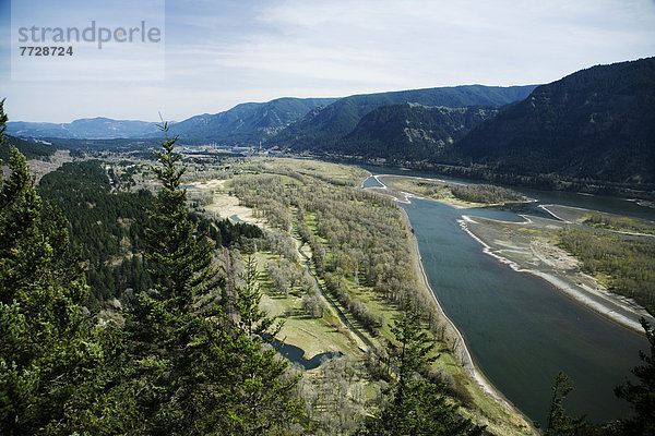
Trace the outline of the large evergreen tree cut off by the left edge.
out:
[[[1,101],[0,147],[5,121]],[[10,148],[0,182],[0,433],[71,434],[86,426],[102,350],[83,315],[87,289],[67,222]]]

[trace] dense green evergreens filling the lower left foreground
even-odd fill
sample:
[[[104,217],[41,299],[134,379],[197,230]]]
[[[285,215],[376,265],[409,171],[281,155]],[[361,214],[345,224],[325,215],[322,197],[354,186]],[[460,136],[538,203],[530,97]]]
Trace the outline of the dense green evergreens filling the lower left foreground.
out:
[[[66,219],[52,202],[41,202],[24,156],[11,148],[11,174],[0,184],[3,434],[308,428],[288,363],[264,347],[265,336],[251,336],[240,323],[246,313],[259,313],[259,301],[222,289],[225,272],[214,262],[214,244],[189,218],[179,183],[184,170],[172,144],[168,136],[162,142],[155,171],[165,187],[143,222],[152,287],[136,293],[124,323],[109,324],[83,310],[88,288]],[[66,170],[91,177],[91,192],[107,194],[97,162]],[[230,306],[239,313],[228,316]]]

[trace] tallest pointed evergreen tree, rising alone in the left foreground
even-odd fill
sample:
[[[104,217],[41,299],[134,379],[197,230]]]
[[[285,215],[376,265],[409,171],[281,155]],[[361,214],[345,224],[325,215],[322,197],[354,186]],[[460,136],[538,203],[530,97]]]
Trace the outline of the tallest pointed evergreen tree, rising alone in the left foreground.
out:
[[[213,341],[223,339],[209,325],[219,320],[207,320],[221,317],[211,295],[219,294],[222,277],[212,247],[189,219],[187,192],[180,187],[184,168],[177,168],[180,155],[174,152],[177,138],[168,135],[166,124],[163,130],[163,152],[155,152],[159,166],[153,168],[162,190],[148,214],[144,253],[154,288],[138,295],[127,318],[134,362],[128,377],[141,387],[136,404],[142,431],[186,434],[206,405],[199,365],[206,363]]]

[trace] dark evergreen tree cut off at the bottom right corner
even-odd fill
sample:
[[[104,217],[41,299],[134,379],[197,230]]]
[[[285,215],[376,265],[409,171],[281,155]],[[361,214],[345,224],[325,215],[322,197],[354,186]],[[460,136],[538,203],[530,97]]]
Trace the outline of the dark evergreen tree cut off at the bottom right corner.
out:
[[[632,370],[639,384],[627,380],[626,385],[615,389],[615,393],[629,401],[634,411],[634,415],[623,422],[624,433],[655,435],[655,328],[643,317],[640,322],[651,346],[651,355],[639,352],[639,358],[644,364]]]

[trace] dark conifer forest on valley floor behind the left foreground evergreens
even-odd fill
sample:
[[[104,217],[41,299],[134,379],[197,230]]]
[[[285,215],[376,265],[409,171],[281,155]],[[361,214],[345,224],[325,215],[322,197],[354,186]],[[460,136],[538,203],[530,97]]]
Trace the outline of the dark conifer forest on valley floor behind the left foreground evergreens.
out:
[[[142,253],[143,223],[155,197],[143,189],[112,189],[108,172],[110,168],[99,160],[69,162],[46,174],[38,185],[41,197],[53,201],[63,210],[71,243],[88,262],[90,304],[94,307],[102,301],[122,296],[128,289],[131,295],[152,286]],[[216,246],[229,246],[241,235],[262,235],[254,226],[228,219],[209,220],[198,214],[191,214],[190,219]]]

